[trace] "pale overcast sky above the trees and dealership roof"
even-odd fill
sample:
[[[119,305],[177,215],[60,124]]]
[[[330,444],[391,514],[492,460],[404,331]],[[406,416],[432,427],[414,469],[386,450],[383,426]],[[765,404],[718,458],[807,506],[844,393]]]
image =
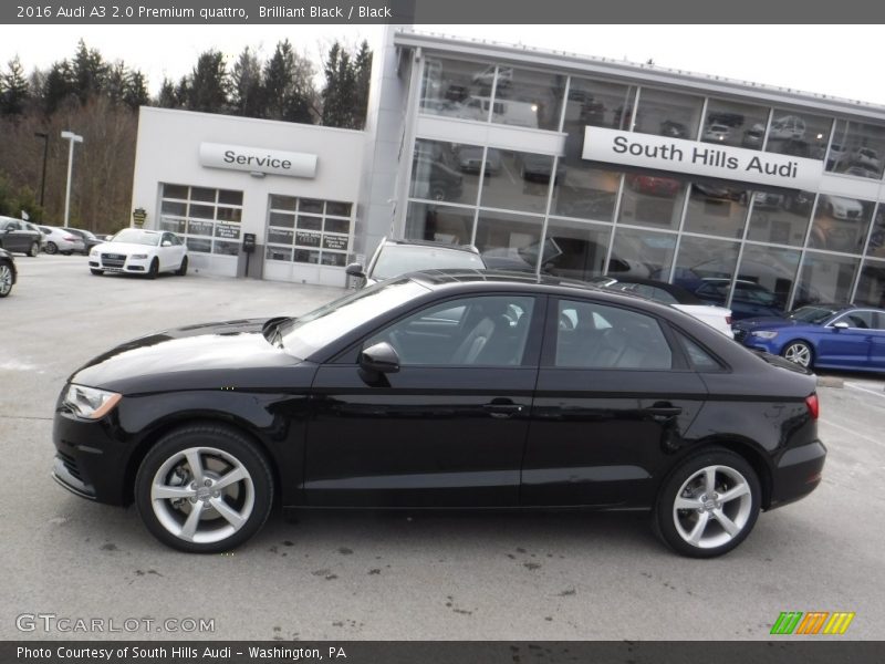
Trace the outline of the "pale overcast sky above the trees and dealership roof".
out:
[[[263,58],[289,39],[320,62],[331,43],[379,38],[381,25],[21,25],[3,30],[0,63],[25,70],[71,58],[80,38],[110,61],[140,69],[156,93],[164,76],[189,73],[199,54],[221,50],[232,64],[243,46]],[[646,62],[885,105],[878,73],[882,25],[428,25],[440,32],[546,50]],[[841,35],[836,38],[836,35]]]

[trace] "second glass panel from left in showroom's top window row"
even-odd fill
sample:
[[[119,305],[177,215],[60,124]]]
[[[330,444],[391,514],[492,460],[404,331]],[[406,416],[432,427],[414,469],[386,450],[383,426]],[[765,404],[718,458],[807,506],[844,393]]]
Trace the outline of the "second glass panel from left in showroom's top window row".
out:
[[[563,75],[499,66],[491,121],[532,129],[558,131],[564,93]],[[485,103],[487,97],[477,98]]]

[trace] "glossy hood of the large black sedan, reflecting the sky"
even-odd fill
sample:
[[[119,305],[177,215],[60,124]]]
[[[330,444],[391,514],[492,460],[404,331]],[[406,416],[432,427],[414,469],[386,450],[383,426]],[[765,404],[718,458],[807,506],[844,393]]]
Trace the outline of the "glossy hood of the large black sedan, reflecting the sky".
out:
[[[266,320],[188,325],[148,334],[94,357],[70,381],[123,394],[309,385],[304,364],[267,341]],[[312,374],[312,372],[310,372]]]

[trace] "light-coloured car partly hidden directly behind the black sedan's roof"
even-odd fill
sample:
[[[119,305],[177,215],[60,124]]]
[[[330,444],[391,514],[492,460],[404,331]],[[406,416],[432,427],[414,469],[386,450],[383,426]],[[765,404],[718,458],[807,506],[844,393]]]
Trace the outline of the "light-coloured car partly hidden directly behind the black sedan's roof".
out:
[[[447,268],[485,270],[486,263],[472,245],[384,238],[372,255],[368,267],[353,262],[344,271],[362,280],[361,286],[366,287],[406,272]]]

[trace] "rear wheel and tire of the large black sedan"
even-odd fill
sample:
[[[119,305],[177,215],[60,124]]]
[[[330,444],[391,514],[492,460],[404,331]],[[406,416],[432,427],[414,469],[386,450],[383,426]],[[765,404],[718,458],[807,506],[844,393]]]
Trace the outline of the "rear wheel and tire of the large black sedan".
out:
[[[708,495],[710,478],[712,496]],[[721,500],[723,496],[726,500]],[[721,556],[750,535],[761,496],[759,478],[743,457],[709,447],[683,461],[662,486],[655,505],[655,529],[681,556]],[[677,499],[686,507],[677,508]]]

